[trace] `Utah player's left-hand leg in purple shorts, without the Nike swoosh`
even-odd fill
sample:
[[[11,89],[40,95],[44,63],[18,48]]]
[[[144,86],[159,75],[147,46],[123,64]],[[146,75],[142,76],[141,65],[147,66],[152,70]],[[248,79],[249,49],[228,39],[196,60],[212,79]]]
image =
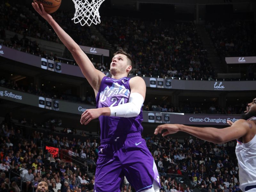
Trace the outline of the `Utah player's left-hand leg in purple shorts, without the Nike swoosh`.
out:
[[[119,159],[113,153],[112,145],[100,146],[98,156],[94,191],[121,191],[124,173]]]

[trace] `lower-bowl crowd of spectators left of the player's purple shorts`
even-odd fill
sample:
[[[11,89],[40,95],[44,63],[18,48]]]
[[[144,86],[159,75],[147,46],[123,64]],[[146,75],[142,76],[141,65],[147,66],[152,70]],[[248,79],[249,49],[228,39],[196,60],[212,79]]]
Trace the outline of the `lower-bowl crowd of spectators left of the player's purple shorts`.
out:
[[[20,124],[37,127],[37,124],[28,123],[25,118]],[[7,114],[0,130],[1,191],[34,191],[42,180],[46,181],[49,189],[54,192],[93,191],[95,178],[93,174],[90,176],[88,174],[95,172],[96,140],[91,142],[86,137],[84,142],[79,139],[68,140],[66,134],[63,134],[63,138],[59,138],[51,134],[44,135],[39,131],[27,134],[29,136],[26,137],[23,131],[25,132],[24,127],[12,123],[12,114]],[[41,141],[59,147],[60,150],[66,149],[68,154],[66,156],[69,158],[62,157],[60,152],[53,156],[50,152],[54,149],[51,151],[41,148]]]

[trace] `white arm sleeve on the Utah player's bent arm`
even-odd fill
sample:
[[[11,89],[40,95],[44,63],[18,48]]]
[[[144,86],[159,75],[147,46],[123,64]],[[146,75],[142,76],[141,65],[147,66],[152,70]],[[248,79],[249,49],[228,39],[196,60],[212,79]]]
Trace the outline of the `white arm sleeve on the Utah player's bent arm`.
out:
[[[140,114],[144,98],[140,93],[131,93],[129,102],[110,108],[110,116],[135,117]]]

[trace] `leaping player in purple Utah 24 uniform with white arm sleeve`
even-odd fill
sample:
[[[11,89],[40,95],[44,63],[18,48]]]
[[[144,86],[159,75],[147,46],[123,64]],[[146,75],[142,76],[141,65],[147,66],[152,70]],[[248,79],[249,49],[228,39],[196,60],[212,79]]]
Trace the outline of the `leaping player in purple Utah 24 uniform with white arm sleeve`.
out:
[[[123,51],[116,52],[110,64],[112,77],[106,77],[94,68],[86,54],[52,16],[44,11],[41,4],[41,9],[35,2],[32,6],[52,26],[72,53],[94,90],[97,108],[87,109],[80,120],[81,124],[88,124],[96,118],[100,120],[101,145],[94,190],[120,191],[125,176],[137,192],[159,191],[156,164],[145,140],[141,138],[141,107],[146,84],[139,76],[127,77],[133,66],[131,56]]]

